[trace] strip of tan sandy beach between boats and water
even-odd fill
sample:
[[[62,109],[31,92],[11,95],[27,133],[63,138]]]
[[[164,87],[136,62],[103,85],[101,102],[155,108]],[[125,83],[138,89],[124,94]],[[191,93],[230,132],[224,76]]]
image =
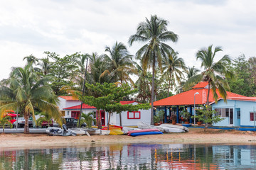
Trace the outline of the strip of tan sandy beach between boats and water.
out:
[[[236,130],[213,130],[190,128],[186,133],[169,133],[164,135],[145,135],[130,137],[127,135],[94,135],[88,136],[48,136],[46,134],[1,134],[0,148],[36,148],[63,147],[114,143],[247,143],[256,145],[255,132]]]

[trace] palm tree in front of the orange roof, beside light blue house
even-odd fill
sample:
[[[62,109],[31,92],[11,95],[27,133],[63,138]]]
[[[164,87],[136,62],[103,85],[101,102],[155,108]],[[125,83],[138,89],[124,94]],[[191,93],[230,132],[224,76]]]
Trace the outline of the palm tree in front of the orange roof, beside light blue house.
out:
[[[227,93],[225,89],[230,90],[228,86],[228,81],[225,78],[233,79],[234,74],[228,69],[228,64],[231,60],[228,55],[224,55],[218,62],[214,62],[216,52],[222,51],[221,47],[215,47],[213,51],[213,45],[203,48],[196,53],[196,60],[201,60],[201,67],[204,71],[201,74],[196,74],[195,76],[188,79],[186,82],[186,87],[193,83],[198,83],[199,81],[208,81],[208,95],[206,105],[209,104],[209,94],[210,89],[213,91],[213,98],[217,102],[218,94],[216,89],[218,89],[220,96],[226,101]],[[224,76],[224,77],[223,77]]]

